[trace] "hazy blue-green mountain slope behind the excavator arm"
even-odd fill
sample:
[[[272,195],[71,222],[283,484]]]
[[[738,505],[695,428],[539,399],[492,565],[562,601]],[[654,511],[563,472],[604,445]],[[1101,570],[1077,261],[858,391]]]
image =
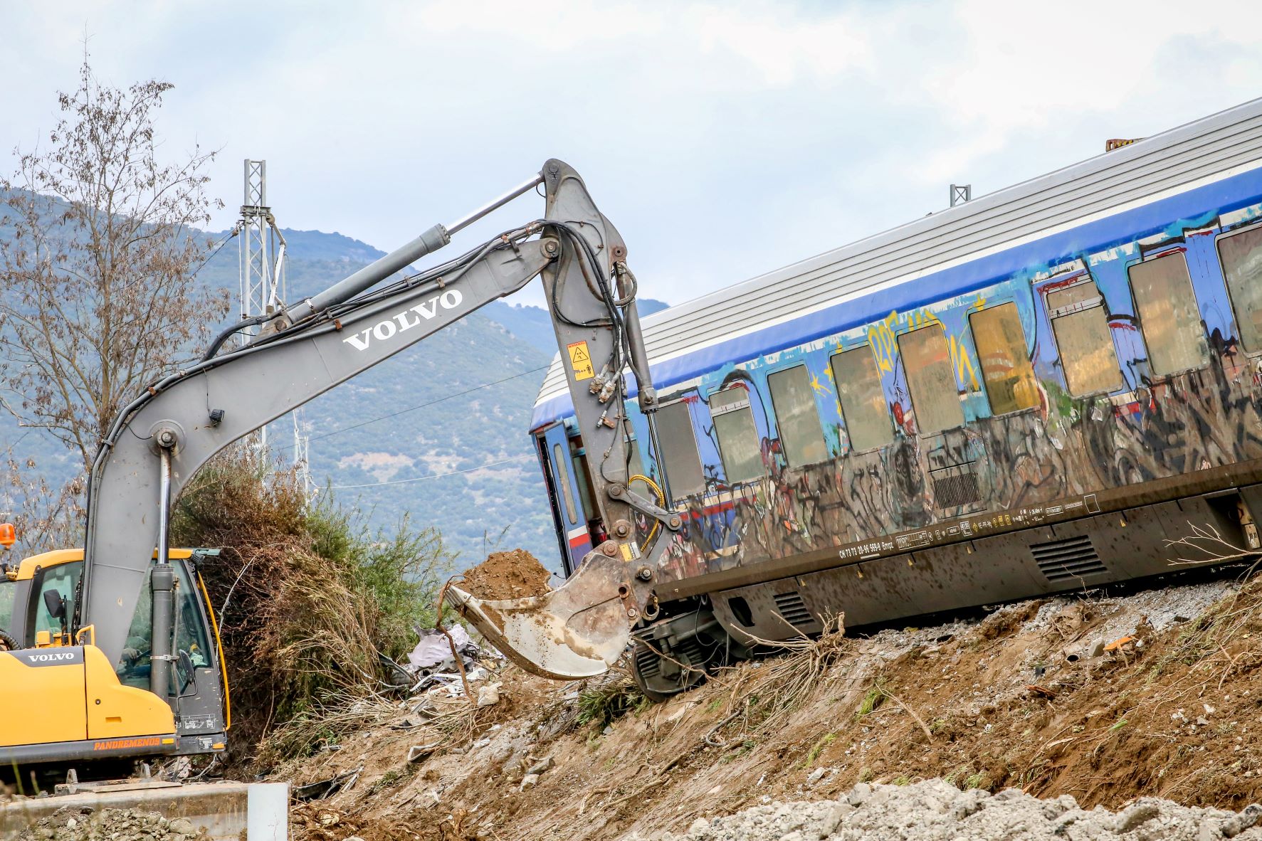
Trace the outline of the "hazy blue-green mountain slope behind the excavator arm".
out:
[[[339,233],[283,231],[286,298],[313,295],[382,256]],[[3,232],[0,232],[3,236]],[[208,235],[218,242],[226,232]],[[199,272],[203,284],[237,289],[237,243],[226,240]],[[645,299],[641,313],[665,306]],[[405,513],[435,526],[461,564],[488,548],[522,547],[559,569],[543,475],[528,435],[530,411],[557,353],[545,310],[495,301],[300,410],[312,478],[375,527]],[[269,445],[290,458],[294,424],[269,425]],[[50,479],[74,460],[47,432],[0,417],[0,445],[35,459]],[[322,490],[321,493],[324,493]],[[4,499],[0,497],[0,512]]]

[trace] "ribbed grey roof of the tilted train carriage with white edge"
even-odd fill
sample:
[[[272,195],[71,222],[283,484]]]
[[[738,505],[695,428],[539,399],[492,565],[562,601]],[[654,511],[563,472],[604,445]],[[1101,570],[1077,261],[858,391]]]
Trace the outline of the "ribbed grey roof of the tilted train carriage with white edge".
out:
[[[857,316],[848,323],[871,320],[890,306],[886,290],[914,306],[925,291],[910,281],[1259,165],[1262,98],[655,313],[644,319],[654,380],[666,386],[835,332],[811,316],[838,304]],[[558,356],[531,429],[572,412]]]

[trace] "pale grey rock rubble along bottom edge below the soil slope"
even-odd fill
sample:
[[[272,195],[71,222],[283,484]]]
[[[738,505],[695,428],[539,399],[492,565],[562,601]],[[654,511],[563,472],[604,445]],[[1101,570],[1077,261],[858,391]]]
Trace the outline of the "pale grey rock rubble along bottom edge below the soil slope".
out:
[[[627,841],[1209,841],[1262,840],[1262,806],[1243,812],[1141,797],[1119,812],[1082,809],[1073,797],[1040,801],[1010,788],[962,792],[941,779],[910,786],[858,783],[835,801],[770,803],[709,821],[683,835]]]

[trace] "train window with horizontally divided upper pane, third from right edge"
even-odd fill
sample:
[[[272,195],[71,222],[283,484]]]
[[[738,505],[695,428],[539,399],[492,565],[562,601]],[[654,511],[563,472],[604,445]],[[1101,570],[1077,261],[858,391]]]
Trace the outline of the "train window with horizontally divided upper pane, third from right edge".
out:
[[[1104,299],[1094,280],[1047,293],[1047,315],[1070,395],[1080,397],[1122,387]]]

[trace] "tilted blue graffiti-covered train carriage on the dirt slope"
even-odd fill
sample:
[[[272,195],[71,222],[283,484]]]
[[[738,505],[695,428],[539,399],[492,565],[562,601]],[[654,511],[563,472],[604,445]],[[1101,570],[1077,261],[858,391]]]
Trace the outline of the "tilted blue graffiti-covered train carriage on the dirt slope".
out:
[[[645,338],[666,477],[634,400],[632,473],[685,518],[640,525],[671,541],[637,630],[655,696],[843,612],[1223,562],[1169,543],[1196,528],[1238,560],[1262,517],[1262,100],[674,306]],[[555,362],[531,426],[568,572],[604,535]]]

